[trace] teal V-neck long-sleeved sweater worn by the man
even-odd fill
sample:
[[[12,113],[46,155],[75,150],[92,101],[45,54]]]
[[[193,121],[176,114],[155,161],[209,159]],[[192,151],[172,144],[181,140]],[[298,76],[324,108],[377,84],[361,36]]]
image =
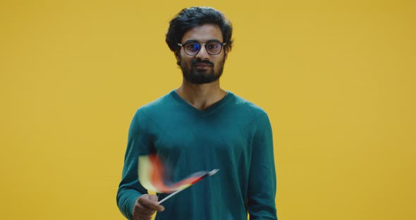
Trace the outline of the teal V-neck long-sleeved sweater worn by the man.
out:
[[[130,124],[117,204],[128,219],[147,190],[137,157],[157,152],[172,180],[219,169],[166,200],[156,219],[277,219],[273,140],[267,114],[232,92],[204,111],[173,90],[142,106]],[[159,194],[159,200],[166,197]]]

